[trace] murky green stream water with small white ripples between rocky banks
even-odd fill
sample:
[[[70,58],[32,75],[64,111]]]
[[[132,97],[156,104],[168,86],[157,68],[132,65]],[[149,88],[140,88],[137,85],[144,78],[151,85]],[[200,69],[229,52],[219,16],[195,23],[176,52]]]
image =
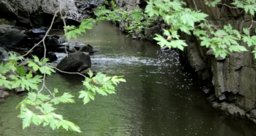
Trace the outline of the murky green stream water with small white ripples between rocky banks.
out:
[[[56,113],[75,122],[82,133],[35,125],[22,130],[15,107],[25,96],[10,92],[0,104],[0,136],[256,135],[252,125],[212,108],[196,79],[184,70],[177,52],[160,52],[156,44],[125,36],[117,26],[101,23],[75,40],[101,50],[91,56],[96,63],[92,68],[123,75],[127,81],[117,86],[117,94],[96,95],[86,105],[75,98],[76,104],[57,106]],[[83,78],[78,75],[55,73],[46,80],[48,88],[58,87],[60,93],[78,96],[83,89]]]

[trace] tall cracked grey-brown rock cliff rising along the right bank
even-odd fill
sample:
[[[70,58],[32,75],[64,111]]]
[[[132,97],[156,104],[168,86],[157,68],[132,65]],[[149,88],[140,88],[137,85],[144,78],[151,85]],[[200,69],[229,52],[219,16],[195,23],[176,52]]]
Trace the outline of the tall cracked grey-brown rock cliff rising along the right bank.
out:
[[[187,6],[202,10],[208,14],[208,21],[215,26],[231,24],[234,29],[241,31],[243,27],[251,26],[251,17],[240,9],[229,8],[225,5],[208,7],[204,0],[184,0]],[[116,0],[119,7],[133,9],[142,5],[138,0]],[[230,3],[232,0],[222,0]],[[134,6],[133,6],[134,5]],[[231,5],[232,6],[232,5]],[[251,33],[255,34],[256,23],[252,24]],[[249,52],[235,52],[227,58],[214,58],[212,50],[200,46],[200,40],[195,36],[182,34],[187,40],[188,47],[181,52],[181,57],[195,69],[198,77],[214,88],[214,95],[209,99],[213,106],[224,111],[227,115],[249,118],[255,123],[256,119],[256,59]],[[243,42],[240,45],[247,45]],[[207,82],[205,82],[207,81]]]

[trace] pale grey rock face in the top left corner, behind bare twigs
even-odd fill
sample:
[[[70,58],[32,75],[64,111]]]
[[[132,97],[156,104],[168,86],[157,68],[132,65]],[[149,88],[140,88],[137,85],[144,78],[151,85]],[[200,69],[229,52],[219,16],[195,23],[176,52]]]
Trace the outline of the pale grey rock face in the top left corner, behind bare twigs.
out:
[[[11,20],[14,22],[12,25],[47,26],[63,1],[65,0],[0,0],[0,18]],[[80,21],[74,0],[66,1],[62,10],[65,19]]]

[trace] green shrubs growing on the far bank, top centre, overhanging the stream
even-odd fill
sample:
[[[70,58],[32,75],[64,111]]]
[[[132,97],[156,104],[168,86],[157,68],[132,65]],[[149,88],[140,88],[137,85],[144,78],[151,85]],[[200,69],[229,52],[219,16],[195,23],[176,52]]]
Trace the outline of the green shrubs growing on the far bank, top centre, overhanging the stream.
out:
[[[128,35],[136,36],[137,38],[144,38],[144,29],[149,26],[150,23],[156,22],[156,18],[147,18],[144,12],[136,8],[132,11],[126,11],[122,8],[116,8],[114,1],[111,1],[111,7],[106,8],[105,5],[98,5],[94,14],[97,16],[98,21],[113,21],[117,23],[125,23],[125,31]],[[107,4],[107,2],[106,2]]]

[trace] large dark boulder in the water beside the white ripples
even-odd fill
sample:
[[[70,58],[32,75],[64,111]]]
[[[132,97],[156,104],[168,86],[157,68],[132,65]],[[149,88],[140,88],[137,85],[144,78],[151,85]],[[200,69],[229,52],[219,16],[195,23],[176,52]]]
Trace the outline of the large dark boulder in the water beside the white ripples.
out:
[[[57,65],[57,68],[65,72],[82,72],[91,67],[90,55],[83,52],[70,53]]]

